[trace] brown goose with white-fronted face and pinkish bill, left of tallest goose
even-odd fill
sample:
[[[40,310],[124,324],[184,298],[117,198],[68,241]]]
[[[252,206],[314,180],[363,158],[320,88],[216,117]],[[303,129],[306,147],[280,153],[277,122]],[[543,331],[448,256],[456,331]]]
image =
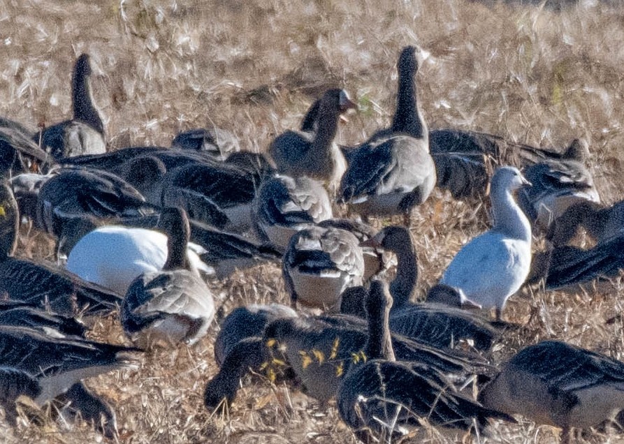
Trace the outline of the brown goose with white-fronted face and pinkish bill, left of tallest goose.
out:
[[[277,172],[291,177],[308,176],[338,188],[347,161],[334,143],[340,113],[356,108],[343,89],[329,89],[319,102],[315,131],[286,131],[271,142],[268,152]]]

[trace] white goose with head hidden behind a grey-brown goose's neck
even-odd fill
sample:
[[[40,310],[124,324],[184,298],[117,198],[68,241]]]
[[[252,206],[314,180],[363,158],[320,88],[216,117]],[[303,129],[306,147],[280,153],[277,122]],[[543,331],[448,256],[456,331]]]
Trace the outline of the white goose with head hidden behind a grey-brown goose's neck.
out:
[[[195,244],[187,247],[191,267],[212,273],[198,256],[202,250]],[[162,269],[167,251],[167,235],[162,232],[108,225],[89,232],[75,244],[66,268],[85,281],[125,295],[137,276]]]

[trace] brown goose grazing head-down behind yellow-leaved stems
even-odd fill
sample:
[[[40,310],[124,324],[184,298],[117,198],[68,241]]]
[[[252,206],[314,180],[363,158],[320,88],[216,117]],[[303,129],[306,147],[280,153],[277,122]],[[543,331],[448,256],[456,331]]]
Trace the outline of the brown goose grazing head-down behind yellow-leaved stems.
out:
[[[269,376],[294,373],[306,393],[321,401],[335,397],[340,380],[354,356],[360,355],[368,337],[366,323],[344,315],[279,317],[268,323],[262,337],[247,337],[236,343],[222,362],[204,393],[206,407],[231,402],[248,369]],[[455,350],[442,350],[393,335],[393,347],[400,360],[413,360],[465,381],[475,373],[489,371],[488,365],[471,361]]]

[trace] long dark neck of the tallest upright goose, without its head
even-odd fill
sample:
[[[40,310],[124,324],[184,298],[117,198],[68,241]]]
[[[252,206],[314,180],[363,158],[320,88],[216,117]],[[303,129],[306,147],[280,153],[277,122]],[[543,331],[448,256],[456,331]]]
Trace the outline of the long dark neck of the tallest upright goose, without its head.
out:
[[[422,121],[416,102],[416,73],[399,72],[396,112],[392,119],[393,133],[406,133],[413,138],[423,138],[427,128]]]

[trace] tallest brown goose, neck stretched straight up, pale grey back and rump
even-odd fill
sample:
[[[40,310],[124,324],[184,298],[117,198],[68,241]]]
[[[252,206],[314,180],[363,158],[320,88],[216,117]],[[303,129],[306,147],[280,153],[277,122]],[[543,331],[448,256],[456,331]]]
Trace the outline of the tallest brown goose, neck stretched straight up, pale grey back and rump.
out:
[[[351,151],[340,182],[339,200],[364,218],[403,214],[407,225],[412,209],[435,186],[428,130],[416,103],[417,51],[405,47],[398,59],[397,109],[391,128]]]

